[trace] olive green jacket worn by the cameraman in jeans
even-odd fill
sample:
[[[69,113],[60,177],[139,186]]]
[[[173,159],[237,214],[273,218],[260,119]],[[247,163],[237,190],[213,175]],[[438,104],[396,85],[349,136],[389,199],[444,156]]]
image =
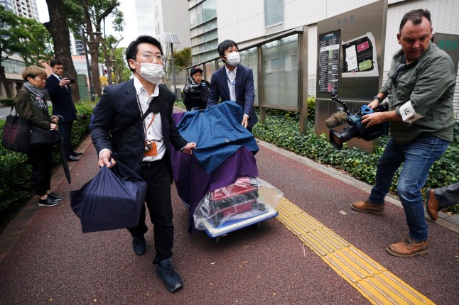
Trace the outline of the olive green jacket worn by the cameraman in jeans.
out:
[[[389,110],[395,110],[397,115],[401,116],[400,106],[411,100],[414,111],[423,118],[411,124],[389,122],[392,138],[396,143],[406,144],[423,133],[452,141],[455,123],[453,61],[446,52],[430,43],[418,60],[399,69],[396,74],[402,55],[403,50],[395,53],[387,82],[379,92],[389,97]]]

